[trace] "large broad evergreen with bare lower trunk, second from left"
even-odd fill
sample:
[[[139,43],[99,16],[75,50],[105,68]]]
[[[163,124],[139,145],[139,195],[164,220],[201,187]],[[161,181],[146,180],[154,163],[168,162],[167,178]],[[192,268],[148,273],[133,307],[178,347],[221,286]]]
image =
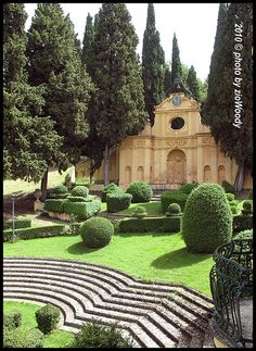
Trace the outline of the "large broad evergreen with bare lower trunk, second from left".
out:
[[[65,171],[80,159],[80,145],[89,133],[86,112],[93,86],[81,64],[74,25],[59,3],[38,4],[28,30],[27,54],[30,84],[47,88],[42,115],[56,122],[55,130],[64,138],[65,158],[57,166]],[[47,173],[41,185],[44,195],[46,184]]]

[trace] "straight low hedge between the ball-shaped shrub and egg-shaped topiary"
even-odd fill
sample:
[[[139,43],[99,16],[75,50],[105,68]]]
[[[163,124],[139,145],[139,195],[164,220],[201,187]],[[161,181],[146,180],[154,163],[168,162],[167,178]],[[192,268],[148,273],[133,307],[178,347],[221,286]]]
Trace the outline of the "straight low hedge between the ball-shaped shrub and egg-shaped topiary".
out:
[[[144,217],[124,218],[119,221],[120,233],[144,233],[144,231],[180,231],[181,217]]]

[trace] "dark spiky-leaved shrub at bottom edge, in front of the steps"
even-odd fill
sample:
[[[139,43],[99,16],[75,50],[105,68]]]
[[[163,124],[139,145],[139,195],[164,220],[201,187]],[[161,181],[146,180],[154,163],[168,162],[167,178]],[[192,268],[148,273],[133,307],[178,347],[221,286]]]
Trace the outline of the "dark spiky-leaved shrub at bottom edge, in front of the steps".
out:
[[[97,322],[87,323],[80,331],[75,335],[73,348],[132,348],[132,341],[124,338],[117,324],[102,326]]]

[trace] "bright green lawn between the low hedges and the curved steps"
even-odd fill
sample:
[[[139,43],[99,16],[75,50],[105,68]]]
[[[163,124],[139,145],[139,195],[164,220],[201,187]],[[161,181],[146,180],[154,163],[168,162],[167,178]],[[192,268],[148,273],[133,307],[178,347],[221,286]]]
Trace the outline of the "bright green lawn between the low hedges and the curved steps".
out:
[[[98,250],[87,249],[79,236],[20,240],[4,242],[3,254],[87,261],[145,280],[183,283],[210,296],[212,254],[189,253],[181,234],[117,234]]]

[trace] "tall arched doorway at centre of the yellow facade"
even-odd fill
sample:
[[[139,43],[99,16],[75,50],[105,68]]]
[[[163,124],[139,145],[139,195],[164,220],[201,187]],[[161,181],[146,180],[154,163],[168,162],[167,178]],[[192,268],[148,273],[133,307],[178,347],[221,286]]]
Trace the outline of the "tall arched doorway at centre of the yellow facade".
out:
[[[167,158],[167,183],[176,187],[185,180],[185,154],[181,150],[172,150]]]

